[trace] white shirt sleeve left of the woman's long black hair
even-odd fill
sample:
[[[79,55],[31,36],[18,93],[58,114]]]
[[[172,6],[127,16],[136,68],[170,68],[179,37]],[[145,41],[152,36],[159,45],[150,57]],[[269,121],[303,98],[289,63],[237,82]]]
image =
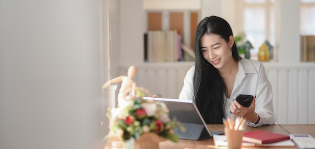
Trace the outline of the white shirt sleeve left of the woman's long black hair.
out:
[[[186,73],[186,76],[184,78],[184,86],[182,88],[182,91],[180,92],[179,99],[187,99],[187,100],[193,100],[195,102],[195,96],[194,96],[194,85],[193,85],[193,77],[195,66],[192,66]]]

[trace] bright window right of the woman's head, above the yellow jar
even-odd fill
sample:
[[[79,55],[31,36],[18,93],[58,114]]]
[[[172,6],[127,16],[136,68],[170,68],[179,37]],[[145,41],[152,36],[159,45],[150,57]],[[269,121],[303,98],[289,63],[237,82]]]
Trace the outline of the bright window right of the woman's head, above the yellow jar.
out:
[[[259,47],[268,40],[274,45],[274,1],[272,0],[240,0],[243,16],[242,26],[246,33],[246,41],[252,43],[251,59],[257,59]],[[236,33],[237,35],[238,33]]]

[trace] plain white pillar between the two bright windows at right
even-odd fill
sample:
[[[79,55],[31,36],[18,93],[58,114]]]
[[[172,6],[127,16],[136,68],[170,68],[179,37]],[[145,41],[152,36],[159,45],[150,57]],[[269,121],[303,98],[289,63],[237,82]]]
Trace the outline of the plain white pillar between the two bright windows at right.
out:
[[[300,62],[300,2],[277,0],[276,11],[276,56],[279,63]]]

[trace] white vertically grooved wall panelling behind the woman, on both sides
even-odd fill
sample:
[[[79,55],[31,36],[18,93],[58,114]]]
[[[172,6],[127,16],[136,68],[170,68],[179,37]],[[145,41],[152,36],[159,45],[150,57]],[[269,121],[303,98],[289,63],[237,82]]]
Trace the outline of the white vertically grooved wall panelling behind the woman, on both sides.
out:
[[[183,80],[193,62],[136,65],[137,86],[164,98],[178,98]],[[315,123],[315,64],[264,63],[273,87],[277,124]],[[129,66],[122,68],[126,75]]]

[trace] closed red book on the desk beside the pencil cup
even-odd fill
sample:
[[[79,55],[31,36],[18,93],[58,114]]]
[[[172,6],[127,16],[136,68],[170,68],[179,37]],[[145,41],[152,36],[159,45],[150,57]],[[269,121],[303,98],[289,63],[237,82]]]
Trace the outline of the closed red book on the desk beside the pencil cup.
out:
[[[243,141],[265,144],[290,139],[289,135],[268,132],[264,130],[244,132]]]

